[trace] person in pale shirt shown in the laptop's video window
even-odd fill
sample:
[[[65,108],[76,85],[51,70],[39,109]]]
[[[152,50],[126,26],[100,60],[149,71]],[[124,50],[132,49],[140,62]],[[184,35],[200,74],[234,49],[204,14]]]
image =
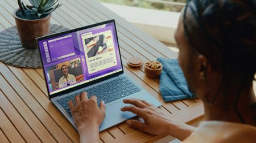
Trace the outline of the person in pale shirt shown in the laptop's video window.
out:
[[[63,73],[63,76],[60,77],[59,88],[63,88],[65,86],[76,83],[76,77],[68,73],[67,65],[64,64],[63,66],[61,66],[60,70]]]

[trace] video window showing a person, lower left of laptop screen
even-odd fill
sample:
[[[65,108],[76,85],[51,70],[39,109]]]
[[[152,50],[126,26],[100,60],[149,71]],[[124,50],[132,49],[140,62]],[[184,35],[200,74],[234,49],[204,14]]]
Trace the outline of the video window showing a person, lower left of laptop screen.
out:
[[[47,67],[48,85],[51,90],[64,88],[84,81],[81,59],[76,58]]]

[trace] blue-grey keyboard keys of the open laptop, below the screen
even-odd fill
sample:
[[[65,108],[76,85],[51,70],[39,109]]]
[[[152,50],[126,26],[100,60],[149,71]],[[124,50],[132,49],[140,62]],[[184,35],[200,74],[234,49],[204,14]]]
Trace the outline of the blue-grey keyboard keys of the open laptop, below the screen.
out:
[[[118,79],[109,81],[108,83],[104,83],[98,86],[94,86],[93,88],[89,88],[84,91],[87,92],[88,98],[95,95],[97,97],[97,104],[99,105],[102,100],[104,100],[105,103],[109,103],[119,98],[129,96],[133,93],[137,93],[141,91],[141,89],[131,83],[131,81],[126,77],[119,77]],[[71,94],[67,97],[57,99],[57,102],[63,107],[63,109],[65,109],[65,111],[68,112],[70,116],[72,116],[72,114],[71,110],[68,107],[68,102],[72,99],[73,103],[75,104],[74,98],[80,93],[82,92],[78,92],[75,94]]]

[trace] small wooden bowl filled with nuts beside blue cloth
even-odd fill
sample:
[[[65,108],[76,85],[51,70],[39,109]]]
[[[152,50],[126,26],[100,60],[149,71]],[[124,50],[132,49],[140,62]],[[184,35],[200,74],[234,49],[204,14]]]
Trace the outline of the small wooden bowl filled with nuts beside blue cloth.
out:
[[[144,72],[147,77],[158,77],[163,69],[163,65],[160,62],[149,61],[145,64]]]

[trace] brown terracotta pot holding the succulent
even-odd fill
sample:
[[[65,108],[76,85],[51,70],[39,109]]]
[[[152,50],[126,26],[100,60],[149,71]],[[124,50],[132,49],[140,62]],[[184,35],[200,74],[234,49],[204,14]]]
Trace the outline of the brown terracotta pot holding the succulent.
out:
[[[51,14],[42,19],[28,20],[16,16],[16,9],[13,12],[16,28],[19,33],[20,42],[23,47],[35,49],[37,47],[36,38],[45,36],[49,33],[49,21]]]

